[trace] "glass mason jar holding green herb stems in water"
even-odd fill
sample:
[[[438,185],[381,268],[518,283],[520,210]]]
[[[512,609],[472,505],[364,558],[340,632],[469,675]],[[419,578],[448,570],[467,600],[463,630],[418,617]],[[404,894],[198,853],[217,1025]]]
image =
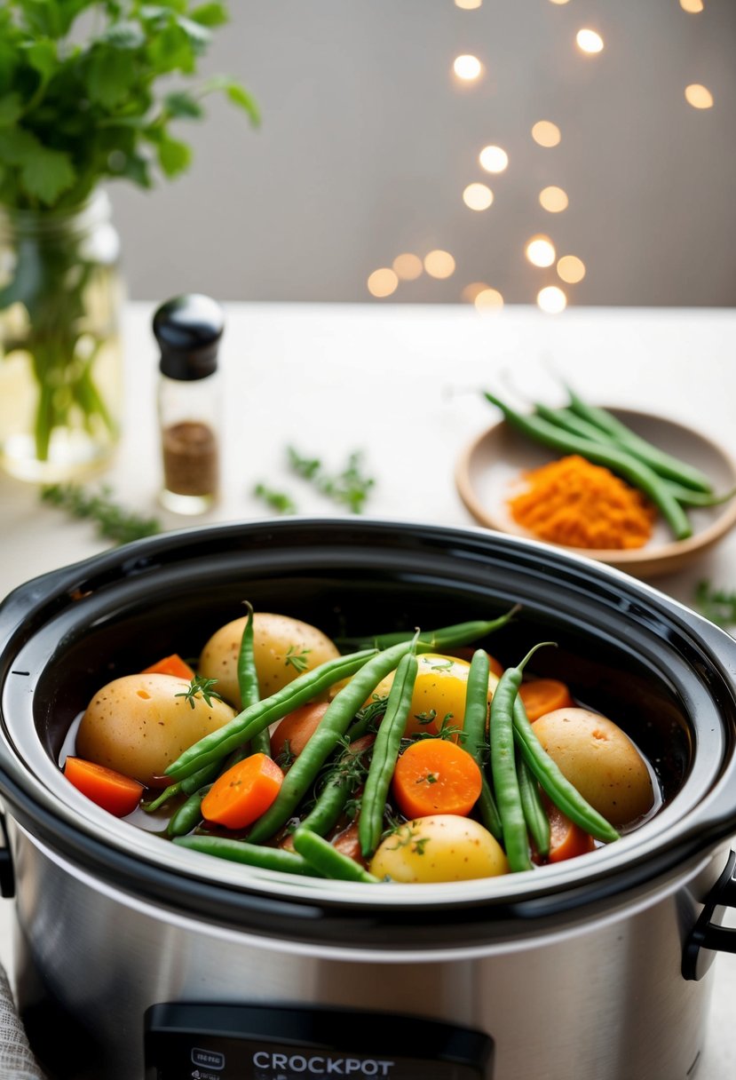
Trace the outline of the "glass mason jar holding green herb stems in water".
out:
[[[122,410],[120,242],[103,191],[67,211],[0,206],[0,462],[21,480],[105,465]]]

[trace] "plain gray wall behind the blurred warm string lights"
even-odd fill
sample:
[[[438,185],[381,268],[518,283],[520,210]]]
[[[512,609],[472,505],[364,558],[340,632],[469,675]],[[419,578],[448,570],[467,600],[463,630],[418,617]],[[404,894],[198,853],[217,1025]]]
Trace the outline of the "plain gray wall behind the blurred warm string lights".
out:
[[[736,0],[232,0],[206,71],[247,84],[259,131],[213,100],[182,124],[189,174],[155,191],[111,187],[128,291],[220,299],[370,299],[368,274],[400,252],[450,251],[455,273],[422,274],[374,302],[456,302],[471,282],[507,302],[558,283],[532,268],[526,240],[548,234],[587,267],[571,305],[736,302]],[[598,29],[585,56],[574,36]],[[459,86],[459,53],[486,65]],[[714,107],[683,91],[704,83]],[[530,136],[555,121],[562,141]],[[489,143],[510,163],[489,176]],[[475,213],[473,180],[494,191]],[[539,191],[564,188],[548,214]]]

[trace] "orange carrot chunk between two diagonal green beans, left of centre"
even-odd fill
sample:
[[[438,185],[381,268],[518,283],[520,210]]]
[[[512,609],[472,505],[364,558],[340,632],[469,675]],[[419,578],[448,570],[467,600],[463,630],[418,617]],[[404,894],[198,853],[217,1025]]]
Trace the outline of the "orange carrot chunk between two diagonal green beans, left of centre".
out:
[[[251,754],[218,777],[202,799],[202,816],[226,828],[245,828],[269,809],[284,773],[265,754]]]

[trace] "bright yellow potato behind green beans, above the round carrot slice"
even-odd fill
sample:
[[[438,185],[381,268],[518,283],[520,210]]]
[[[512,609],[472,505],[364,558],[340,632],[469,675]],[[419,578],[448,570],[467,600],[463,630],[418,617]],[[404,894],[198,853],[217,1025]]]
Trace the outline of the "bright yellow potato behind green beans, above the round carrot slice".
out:
[[[453,728],[462,728],[469,663],[438,652],[423,652],[417,659],[419,671],[405,729],[406,734],[412,735],[419,732],[437,734],[444,723]],[[386,697],[393,681],[392,673],[377,686],[371,699]],[[498,683],[498,676],[491,673],[488,683],[489,701]]]

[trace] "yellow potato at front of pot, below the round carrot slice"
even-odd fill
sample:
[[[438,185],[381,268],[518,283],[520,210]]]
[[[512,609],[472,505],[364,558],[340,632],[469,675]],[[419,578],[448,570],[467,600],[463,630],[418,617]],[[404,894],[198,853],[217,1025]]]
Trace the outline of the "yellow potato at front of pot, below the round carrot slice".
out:
[[[415,818],[387,836],[370,862],[370,873],[405,883],[469,881],[508,872],[501,845],[471,818]]]

